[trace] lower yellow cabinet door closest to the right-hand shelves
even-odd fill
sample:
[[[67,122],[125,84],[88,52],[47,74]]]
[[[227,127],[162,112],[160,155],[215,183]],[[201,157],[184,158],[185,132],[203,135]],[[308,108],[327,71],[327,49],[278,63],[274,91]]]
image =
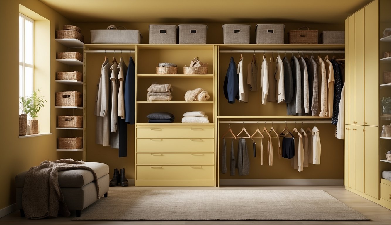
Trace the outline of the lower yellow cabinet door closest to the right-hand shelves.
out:
[[[365,193],[379,199],[379,128],[365,129]]]

